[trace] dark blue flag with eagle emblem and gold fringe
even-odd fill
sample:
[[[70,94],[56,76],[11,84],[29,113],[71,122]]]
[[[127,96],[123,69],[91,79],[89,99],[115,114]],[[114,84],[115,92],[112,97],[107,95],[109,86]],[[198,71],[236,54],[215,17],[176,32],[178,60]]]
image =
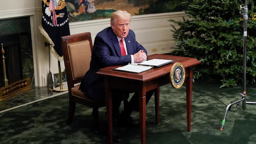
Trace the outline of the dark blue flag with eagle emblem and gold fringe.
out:
[[[52,44],[51,50],[54,56],[61,61],[63,54],[60,37],[70,35],[70,31],[67,8],[66,6],[60,8],[57,1],[61,4],[65,2],[65,0],[42,0],[42,25],[39,29]]]

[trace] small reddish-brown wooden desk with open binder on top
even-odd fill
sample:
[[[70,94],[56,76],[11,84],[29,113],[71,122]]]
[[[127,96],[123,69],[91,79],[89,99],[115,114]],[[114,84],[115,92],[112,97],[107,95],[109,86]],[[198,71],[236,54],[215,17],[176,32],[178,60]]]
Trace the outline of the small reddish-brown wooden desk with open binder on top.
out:
[[[153,54],[148,58],[174,60],[181,62],[186,69],[186,107],[187,107],[187,130],[191,128],[191,100],[192,100],[192,67],[200,64],[196,58],[186,58],[180,56],[170,56],[164,54]],[[157,89],[165,84],[170,84],[170,70],[172,65],[168,64],[160,68],[153,68],[139,74],[128,72],[114,71],[113,69],[120,66],[109,66],[100,69],[97,73],[104,76],[105,94],[106,94],[106,110],[108,122],[108,140],[112,144],[112,88],[125,90],[128,92],[138,92],[139,111],[140,111],[140,138],[141,144],[146,144],[146,92]],[[159,110],[159,100],[156,102],[156,110]],[[156,116],[158,122],[159,116]]]

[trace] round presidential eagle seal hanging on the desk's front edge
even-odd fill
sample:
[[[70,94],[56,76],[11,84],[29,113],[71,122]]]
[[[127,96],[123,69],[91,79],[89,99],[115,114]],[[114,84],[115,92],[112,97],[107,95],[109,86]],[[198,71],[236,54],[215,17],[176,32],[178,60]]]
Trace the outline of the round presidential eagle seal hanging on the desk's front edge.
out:
[[[185,80],[185,68],[182,63],[175,62],[170,71],[170,81],[174,88],[180,88]]]

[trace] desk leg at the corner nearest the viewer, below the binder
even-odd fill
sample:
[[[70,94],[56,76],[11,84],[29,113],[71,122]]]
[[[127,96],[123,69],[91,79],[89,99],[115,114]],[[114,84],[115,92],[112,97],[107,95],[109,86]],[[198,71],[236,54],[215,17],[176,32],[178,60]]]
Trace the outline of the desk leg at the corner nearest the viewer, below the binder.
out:
[[[139,96],[140,108],[140,141],[146,144],[146,96]]]

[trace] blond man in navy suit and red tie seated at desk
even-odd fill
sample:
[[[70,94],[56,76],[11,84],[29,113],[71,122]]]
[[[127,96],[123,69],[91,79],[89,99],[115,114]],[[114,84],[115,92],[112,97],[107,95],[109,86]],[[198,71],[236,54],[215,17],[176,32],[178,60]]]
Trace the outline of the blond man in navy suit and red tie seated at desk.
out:
[[[129,30],[131,18],[131,14],[126,11],[118,10],[113,12],[110,20],[111,26],[96,35],[90,69],[86,72],[80,85],[81,91],[88,98],[92,100],[105,99],[104,78],[96,74],[101,68],[146,60],[146,49],[136,41],[134,32]],[[121,113],[119,113],[119,107],[126,93],[116,90],[112,94],[114,126],[116,123],[118,125],[122,123],[139,127],[139,123],[130,116],[133,110],[138,110],[138,94],[135,93],[132,96],[128,106]],[[146,102],[148,102],[152,94],[153,90],[147,92]],[[116,132],[113,133],[113,141],[121,142],[121,138]]]

